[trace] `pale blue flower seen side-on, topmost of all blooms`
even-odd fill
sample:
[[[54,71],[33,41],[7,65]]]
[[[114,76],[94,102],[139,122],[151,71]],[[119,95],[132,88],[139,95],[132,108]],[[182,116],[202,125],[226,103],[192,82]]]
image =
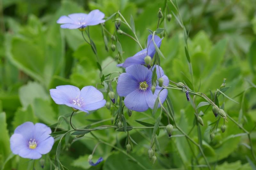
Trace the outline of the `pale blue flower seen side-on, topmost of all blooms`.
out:
[[[105,14],[100,10],[93,10],[89,14],[74,13],[68,16],[63,15],[57,20],[57,23],[62,24],[61,28],[77,29],[103,23],[105,22],[104,17]]]

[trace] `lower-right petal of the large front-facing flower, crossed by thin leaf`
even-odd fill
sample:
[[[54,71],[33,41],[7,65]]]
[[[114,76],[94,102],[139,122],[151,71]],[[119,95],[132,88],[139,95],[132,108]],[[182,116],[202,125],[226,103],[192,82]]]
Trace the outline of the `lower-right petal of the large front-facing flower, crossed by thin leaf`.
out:
[[[146,96],[146,101],[147,101],[148,107],[150,107],[151,109],[154,108],[156,99],[158,97],[158,93],[160,91],[161,91],[160,88],[156,88],[154,95],[151,91],[148,91],[147,96]],[[167,89],[164,89],[160,92],[159,98],[161,100],[161,103],[164,103],[165,99],[167,98],[167,94],[168,94]],[[158,107],[160,107],[160,104],[158,105]]]

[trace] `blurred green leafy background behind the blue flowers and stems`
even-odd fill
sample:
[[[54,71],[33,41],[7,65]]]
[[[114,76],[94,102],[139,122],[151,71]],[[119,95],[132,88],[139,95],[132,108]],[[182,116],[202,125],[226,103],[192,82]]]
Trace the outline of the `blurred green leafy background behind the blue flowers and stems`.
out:
[[[65,121],[59,116],[70,114],[70,108],[57,105],[49,95],[49,89],[58,85],[75,85],[82,88],[86,85],[96,86],[100,83],[100,71],[91,47],[86,44],[78,30],[60,29],[56,20],[61,15],[99,9],[106,17],[118,10],[130,21],[132,14],[136,33],[144,44],[149,34],[147,28],[156,29],[157,12],[164,7],[164,0],[0,0],[0,169],[32,169],[33,162],[14,156],[10,151],[10,136],[14,129],[26,121],[43,122],[48,126],[60,122],[60,129],[68,129]],[[225,103],[225,111],[246,130],[251,131],[256,123],[256,1],[255,0],[179,0],[180,15],[189,31],[188,48],[194,71],[195,90],[210,96],[209,89],[214,92],[226,78],[225,92],[239,104],[220,97],[220,105]],[[165,14],[177,14],[170,1]],[[112,19],[105,23],[110,33],[114,33]],[[161,58],[161,66],[165,75],[175,82],[187,82],[190,78],[188,62],[184,51],[184,38],[180,25],[172,15],[170,22],[162,23],[165,27],[161,45],[165,59]],[[121,25],[126,33],[132,32]],[[91,38],[96,44],[103,74],[122,71],[113,61],[117,50],[105,50],[101,26],[91,27]],[[163,35],[162,35],[163,36]],[[139,46],[129,37],[118,35],[123,48],[123,58],[134,55]],[[108,36],[108,48],[111,46]],[[111,62],[111,63],[110,63]],[[110,64],[109,64],[110,63]],[[104,86],[97,85],[104,89]],[[199,89],[199,90],[198,90]],[[104,91],[104,90],[103,90]],[[194,124],[194,109],[187,102],[184,93],[169,90],[169,96],[178,118],[180,127],[188,133]],[[104,97],[109,101],[106,92]],[[197,98],[197,104],[203,101]],[[255,161],[250,151],[247,136],[233,122],[226,123],[225,133],[220,125],[215,138],[210,140],[210,123],[215,121],[211,109],[200,107],[204,112],[204,126],[201,128],[204,153],[215,169],[255,169]],[[125,110],[127,112],[127,110]],[[76,127],[84,127],[95,120],[109,119],[103,124],[111,124],[112,110],[101,108],[92,114],[78,113],[73,118]],[[133,112],[127,122],[132,126],[141,126],[135,120],[154,124],[157,116],[151,110],[145,113]],[[163,117],[161,125],[167,124]],[[222,121],[221,123],[222,124]],[[93,126],[92,126],[93,127]],[[94,126],[95,127],[95,126]],[[54,130],[54,129],[52,129]],[[124,132],[114,129],[99,130],[97,137],[125,151]],[[185,137],[168,138],[164,129],[160,130],[155,165],[148,159],[148,148],[152,129],[136,129],[130,131],[134,144],[131,155],[148,169],[206,169],[196,166],[193,153]],[[179,135],[178,131],[173,132]],[[196,128],[189,136],[197,139]],[[251,133],[254,150],[256,147],[256,130]],[[58,139],[56,139],[57,141]],[[52,151],[43,156],[44,169],[50,169],[50,160],[54,163],[56,142]],[[103,169],[131,170],[141,169],[124,153],[112,147],[100,144],[94,158],[102,156],[104,162],[91,167],[87,162],[97,141],[86,134],[79,140],[67,137],[62,142],[60,161],[68,169]],[[249,148],[249,149],[248,149]],[[196,146],[192,145],[198,164],[205,164]],[[256,151],[256,150],[255,150]],[[36,169],[42,160],[36,161]],[[54,169],[54,168],[53,168]]]

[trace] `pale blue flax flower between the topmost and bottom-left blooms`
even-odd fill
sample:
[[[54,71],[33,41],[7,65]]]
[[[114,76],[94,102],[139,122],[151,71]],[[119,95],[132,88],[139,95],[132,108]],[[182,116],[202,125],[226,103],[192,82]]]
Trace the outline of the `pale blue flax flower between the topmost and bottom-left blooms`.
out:
[[[56,89],[50,89],[50,95],[55,103],[67,105],[86,113],[97,110],[106,104],[103,94],[93,86],[85,86],[80,91],[73,85],[60,85]]]

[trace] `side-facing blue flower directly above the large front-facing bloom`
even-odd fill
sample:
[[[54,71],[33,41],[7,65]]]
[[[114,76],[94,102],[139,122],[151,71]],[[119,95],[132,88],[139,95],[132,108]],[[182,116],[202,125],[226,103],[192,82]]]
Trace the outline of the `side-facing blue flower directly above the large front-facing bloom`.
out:
[[[148,35],[148,45],[147,48],[139,51],[138,53],[136,53],[135,55],[133,55],[132,57],[128,57],[126,58],[126,60],[124,61],[124,63],[121,64],[117,64],[117,67],[128,67],[130,65],[133,64],[145,64],[144,58],[149,55],[151,58],[154,57],[155,53],[156,53],[156,48],[154,46],[154,42],[152,40],[153,35]],[[160,37],[158,37],[157,35],[154,36],[154,40],[156,42],[157,47],[159,48],[162,42],[162,39]]]

